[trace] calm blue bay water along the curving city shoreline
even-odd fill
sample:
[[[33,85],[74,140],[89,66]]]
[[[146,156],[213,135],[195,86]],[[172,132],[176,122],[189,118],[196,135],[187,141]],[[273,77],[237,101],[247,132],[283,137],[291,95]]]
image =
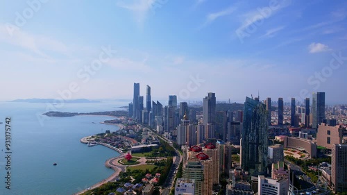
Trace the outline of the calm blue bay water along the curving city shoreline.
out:
[[[117,110],[125,103],[65,103],[62,112]],[[118,130],[99,124],[113,117],[45,117],[45,103],[0,102],[0,194],[74,194],[113,173],[105,160],[119,153],[104,146],[87,147],[80,139]],[[11,117],[11,189],[5,184],[5,117]],[[53,163],[57,166],[53,166]]]

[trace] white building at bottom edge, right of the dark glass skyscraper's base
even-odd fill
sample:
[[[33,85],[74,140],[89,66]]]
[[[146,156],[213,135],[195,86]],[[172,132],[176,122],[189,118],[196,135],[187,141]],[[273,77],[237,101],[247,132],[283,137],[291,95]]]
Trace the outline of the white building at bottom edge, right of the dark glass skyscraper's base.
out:
[[[288,180],[279,179],[274,180],[258,176],[258,194],[262,195],[287,195],[288,194]]]

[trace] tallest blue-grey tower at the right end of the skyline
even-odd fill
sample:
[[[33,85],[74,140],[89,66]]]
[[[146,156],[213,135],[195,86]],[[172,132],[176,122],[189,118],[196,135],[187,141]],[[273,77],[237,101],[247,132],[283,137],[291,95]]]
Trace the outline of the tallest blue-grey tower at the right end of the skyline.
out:
[[[312,94],[312,115],[312,128],[318,128],[318,125],[325,119],[325,92]]]

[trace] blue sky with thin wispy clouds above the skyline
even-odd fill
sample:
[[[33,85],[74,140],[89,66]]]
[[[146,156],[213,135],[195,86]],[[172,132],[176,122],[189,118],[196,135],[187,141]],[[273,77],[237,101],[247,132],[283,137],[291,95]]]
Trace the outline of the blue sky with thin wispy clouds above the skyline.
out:
[[[1,100],[346,103],[344,1],[0,1]],[[100,58],[102,56],[103,58]],[[346,57],[345,57],[346,56]]]

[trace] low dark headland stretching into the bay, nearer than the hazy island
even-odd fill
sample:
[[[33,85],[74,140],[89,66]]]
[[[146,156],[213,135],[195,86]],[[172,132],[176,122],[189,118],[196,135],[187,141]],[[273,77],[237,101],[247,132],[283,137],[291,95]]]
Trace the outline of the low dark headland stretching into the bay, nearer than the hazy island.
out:
[[[87,113],[50,111],[42,115],[46,115],[47,117],[74,117],[77,115],[107,115],[112,117],[123,117],[128,115],[128,111],[116,110],[116,111],[87,112]]]

